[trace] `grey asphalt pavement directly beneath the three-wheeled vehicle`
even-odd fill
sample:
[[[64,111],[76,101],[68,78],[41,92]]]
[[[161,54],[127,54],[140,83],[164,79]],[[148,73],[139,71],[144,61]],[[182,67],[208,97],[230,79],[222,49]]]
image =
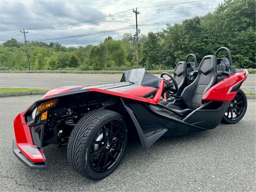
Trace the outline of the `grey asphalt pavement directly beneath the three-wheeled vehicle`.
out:
[[[38,98],[0,98],[1,191],[256,191],[254,101],[236,125],[163,138],[147,151],[132,143],[113,174],[91,181],[68,164],[66,147],[45,147],[46,171],[31,171],[12,154],[13,118]]]

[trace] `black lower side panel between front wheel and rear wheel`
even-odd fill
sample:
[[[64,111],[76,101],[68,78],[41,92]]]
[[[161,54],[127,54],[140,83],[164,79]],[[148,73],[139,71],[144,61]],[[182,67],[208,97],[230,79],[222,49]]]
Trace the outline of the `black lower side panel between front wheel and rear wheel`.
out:
[[[161,105],[150,105],[129,99],[121,100],[137,128],[142,149],[149,148],[162,135],[177,137],[214,129],[229,105],[229,102],[210,101],[182,118]]]

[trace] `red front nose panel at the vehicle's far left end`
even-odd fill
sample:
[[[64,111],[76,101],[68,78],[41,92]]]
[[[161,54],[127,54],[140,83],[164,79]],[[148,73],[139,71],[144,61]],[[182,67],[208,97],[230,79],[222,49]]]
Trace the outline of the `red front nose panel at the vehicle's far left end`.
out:
[[[20,113],[13,122],[17,147],[31,162],[44,162],[41,150],[33,143],[30,129],[23,118],[24,113]]]

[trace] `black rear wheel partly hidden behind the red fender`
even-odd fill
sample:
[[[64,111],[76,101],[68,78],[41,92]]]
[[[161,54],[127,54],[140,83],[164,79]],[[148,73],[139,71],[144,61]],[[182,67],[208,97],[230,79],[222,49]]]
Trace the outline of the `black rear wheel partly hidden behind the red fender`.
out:
[[[245,115],[247,109],[247,98],[244,92],[239,89],[235,98],[230,102],[227,111],[223,115],[222,122],[235,124]]]

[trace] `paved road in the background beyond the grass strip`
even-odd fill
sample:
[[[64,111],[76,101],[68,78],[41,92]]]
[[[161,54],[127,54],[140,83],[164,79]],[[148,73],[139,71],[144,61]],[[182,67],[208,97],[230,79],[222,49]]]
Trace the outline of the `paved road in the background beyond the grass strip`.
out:
[[[0,87],[53,89],[74,84],[94,85],[118,82],[121,76],[120,74],[0,73]],[[255,74],[249,75],[242,89],[246,92],[256,92]]]

